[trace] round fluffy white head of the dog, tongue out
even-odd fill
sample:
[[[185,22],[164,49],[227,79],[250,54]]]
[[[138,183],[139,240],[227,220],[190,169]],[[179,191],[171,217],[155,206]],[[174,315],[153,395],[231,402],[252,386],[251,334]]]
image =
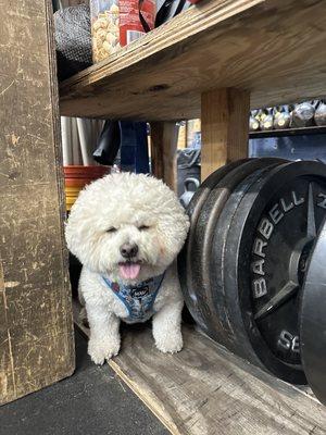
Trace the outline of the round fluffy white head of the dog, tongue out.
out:
[[[113,174],[89,185],[66,225],[70,250],[89,270],[135,283],[159,275],[181,249],[188,217],[175,194],[146,175]]]

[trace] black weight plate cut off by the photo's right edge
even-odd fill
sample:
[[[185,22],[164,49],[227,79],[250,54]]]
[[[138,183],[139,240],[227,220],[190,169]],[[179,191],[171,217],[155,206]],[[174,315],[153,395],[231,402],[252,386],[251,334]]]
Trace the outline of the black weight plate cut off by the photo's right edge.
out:
[[[321,197],[319,207],[326,209],[326,195]],[[309,259],[300,318],[303,370],[312,390],[326,405],[326,221]]]

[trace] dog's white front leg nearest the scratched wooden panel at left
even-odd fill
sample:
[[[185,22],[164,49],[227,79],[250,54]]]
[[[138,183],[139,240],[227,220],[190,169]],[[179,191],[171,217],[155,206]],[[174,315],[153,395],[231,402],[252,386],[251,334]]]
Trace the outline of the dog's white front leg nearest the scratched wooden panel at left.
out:
[[[105,306],[86,303],[90,338],[88,355],[96,364],[117,355],[120,350],[120,319]]]

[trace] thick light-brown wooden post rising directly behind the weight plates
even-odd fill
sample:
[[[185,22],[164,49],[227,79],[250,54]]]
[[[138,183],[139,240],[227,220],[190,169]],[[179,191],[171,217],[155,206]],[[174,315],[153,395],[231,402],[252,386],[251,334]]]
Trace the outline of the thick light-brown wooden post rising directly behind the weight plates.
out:
[[[217,167],[248,157],[250,94],[216,89],[201,96],[201,178]]]

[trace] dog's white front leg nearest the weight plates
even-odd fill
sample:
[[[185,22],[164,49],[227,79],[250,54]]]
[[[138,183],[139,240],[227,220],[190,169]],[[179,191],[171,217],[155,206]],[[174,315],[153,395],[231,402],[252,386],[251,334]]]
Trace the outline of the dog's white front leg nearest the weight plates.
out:
[[[183,348],[181,311],[184,301],[167,303],[153,315],[153,337],[162,352],[175,353]]]

